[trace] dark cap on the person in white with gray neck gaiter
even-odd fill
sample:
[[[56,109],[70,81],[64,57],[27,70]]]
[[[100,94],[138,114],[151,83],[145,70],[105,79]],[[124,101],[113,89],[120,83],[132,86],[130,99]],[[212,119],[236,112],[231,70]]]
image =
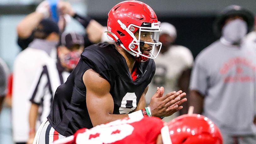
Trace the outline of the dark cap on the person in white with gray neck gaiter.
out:
[[[40,31],[48,35],[52,32],[59,33],[59,27],[58,24],[51,19],[42,19],[37,26],[36,31]]]

